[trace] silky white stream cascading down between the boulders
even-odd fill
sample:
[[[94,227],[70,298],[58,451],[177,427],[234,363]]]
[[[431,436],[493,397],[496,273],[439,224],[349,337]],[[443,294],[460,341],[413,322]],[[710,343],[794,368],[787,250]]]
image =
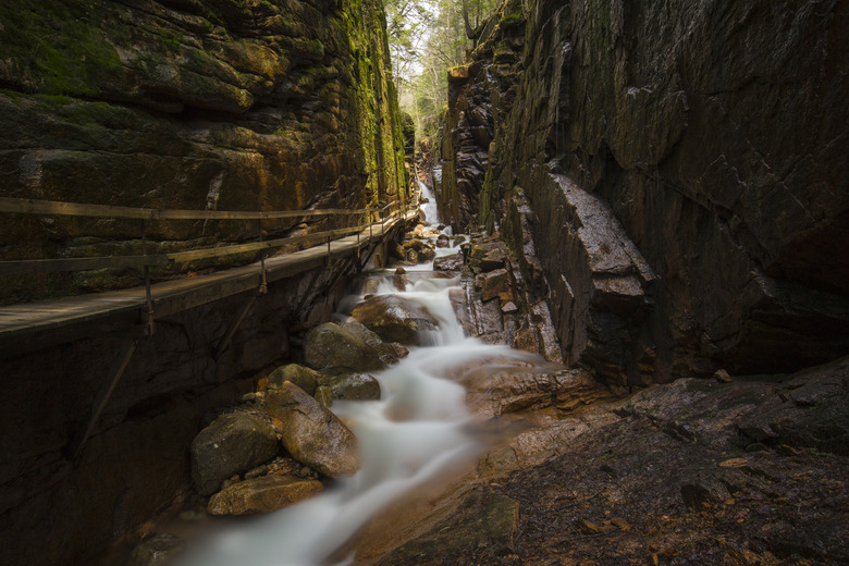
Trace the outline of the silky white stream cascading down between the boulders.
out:
[[[427,187],[424,187],[427,188]],[[426,214],[436,221],[433,196]],[[433,233],[435,236],[435,232]],[[439,255],[457,248],[438,248]],[[427,276],[432,262],[405,267],[410,283],[394,285],[392,271],[372,273],[378,294],[403,294],[419,300],[441,322],[422,336],[421,347],[376,373],[381,401],[334,402],[333,411],[349,423],[359,440],[362,467],[323,494],[280,512],[251,519],[190,547],[182,566],[319,566],[381,508],[453,466],[473,462],[481,443],[467,432],[470,414],[464,387],[446,379],[452,370],[493,357],[527,358],[506,346],[485,345],[464,336],[448,299],[457,279]],[[341,303],[336,319],[361,300]],[[336,564],[353,564],[353,557]]]

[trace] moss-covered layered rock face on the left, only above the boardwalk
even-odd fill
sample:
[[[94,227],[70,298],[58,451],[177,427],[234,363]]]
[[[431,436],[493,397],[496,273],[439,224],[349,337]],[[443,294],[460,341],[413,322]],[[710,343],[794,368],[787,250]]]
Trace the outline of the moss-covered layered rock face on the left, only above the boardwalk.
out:
[[[3,2],[0,196],[196,210],[394,200],[406,179],[385,41],[379,2]],[[147,226],[148,253],[258,235],[245,222]],[[132,255],[140,237],[139,221],[13,217],[0,257]],[[0,288],[21,300],[137,283],[82,272]]]

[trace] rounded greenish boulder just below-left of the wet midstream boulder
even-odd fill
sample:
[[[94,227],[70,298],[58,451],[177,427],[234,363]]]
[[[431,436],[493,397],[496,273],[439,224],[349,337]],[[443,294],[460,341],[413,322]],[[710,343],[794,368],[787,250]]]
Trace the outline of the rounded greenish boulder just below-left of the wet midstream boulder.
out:
[[[385,367],[373,346],[333,322],[319,324],[307,332],[304,357],[307,365],[319,370],[348,368],[353,371],[376,371]]]

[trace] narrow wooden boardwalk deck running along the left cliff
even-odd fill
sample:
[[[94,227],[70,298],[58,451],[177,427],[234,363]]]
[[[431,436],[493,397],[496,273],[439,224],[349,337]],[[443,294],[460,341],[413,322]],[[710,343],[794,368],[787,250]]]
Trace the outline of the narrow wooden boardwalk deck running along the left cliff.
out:
[[[349,256],[358,248],[369,253],[398,223],[413,218],[414,214],[408,213],[404,218],[387,221],[385,225],[374,224],[371,233],[365,230],[330,244],[324,243],[266,259],[266,280],[272,283],[313,269],[322,269],[329,255],[333,258]],[[156,283],[150,287],[153,316],[159,319],[224,297],[258,290],[261,283],[259,261],[207,275]],[[146,317],[147,295],[144,286],[0,307],[0,355],[32,350],[40,345],[82,337],[79,332],[83,325],[87,327],[89,335],[115,331],[143,335],[147,329]]]

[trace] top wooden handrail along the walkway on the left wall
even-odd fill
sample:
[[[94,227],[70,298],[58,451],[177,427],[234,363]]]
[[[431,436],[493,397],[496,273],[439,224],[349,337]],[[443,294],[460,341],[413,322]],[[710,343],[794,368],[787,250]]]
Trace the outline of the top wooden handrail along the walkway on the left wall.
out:
[[[61,217],[125,218],[138,220],[260,220],[278,218],[353,216],[377,212],[376,208],[327,208],[316,210],[170,210],[156,208],[85,205],[58,200],[0,197],[0,212]]]

